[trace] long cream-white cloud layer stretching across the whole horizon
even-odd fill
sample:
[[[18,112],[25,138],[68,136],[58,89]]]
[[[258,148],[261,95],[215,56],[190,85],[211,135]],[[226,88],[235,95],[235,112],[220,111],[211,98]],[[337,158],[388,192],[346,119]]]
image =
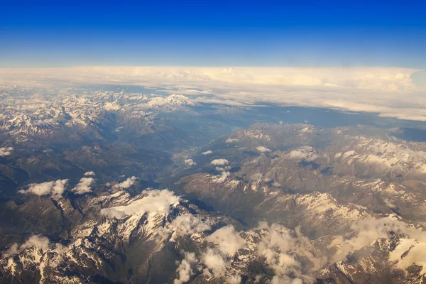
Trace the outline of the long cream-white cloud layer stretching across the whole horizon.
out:
[[[56,79],[75,84],[140,80],[145,87],[163,87],[170,94],[196,95],[198,102],[268,102],[426,121],[424,89],[412,81],[418,71],[398,67],[66,67],[1,69],[0,83],[48,84],[46,76],[52,84]]]

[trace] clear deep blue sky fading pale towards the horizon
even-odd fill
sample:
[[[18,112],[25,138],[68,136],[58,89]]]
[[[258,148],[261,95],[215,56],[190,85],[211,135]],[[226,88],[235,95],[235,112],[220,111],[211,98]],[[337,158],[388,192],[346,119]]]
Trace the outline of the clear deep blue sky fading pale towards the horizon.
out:
[[[0,67],[426,69],[426,1],[87,2],[1,4]]]

